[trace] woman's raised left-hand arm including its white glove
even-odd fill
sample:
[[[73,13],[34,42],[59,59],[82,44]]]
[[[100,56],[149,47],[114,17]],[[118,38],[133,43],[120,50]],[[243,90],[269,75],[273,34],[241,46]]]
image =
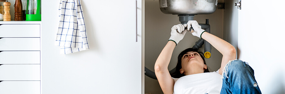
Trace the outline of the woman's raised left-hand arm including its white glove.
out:
[[[175,46],[183,39],[187,32],[185,27],[186,24],[177,24],[171,28],[171,36],[168,43],[162,49],[154,65],[155,75],[164,94],[173,93],[174,80],[169,74],[168,65]]]

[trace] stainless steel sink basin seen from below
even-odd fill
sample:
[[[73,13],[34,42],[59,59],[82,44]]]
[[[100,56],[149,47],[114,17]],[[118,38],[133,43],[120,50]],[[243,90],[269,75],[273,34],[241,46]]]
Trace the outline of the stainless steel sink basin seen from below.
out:
[[[217,9],[216,0],[159,0],[159,4],[164,14],[212,14]]]

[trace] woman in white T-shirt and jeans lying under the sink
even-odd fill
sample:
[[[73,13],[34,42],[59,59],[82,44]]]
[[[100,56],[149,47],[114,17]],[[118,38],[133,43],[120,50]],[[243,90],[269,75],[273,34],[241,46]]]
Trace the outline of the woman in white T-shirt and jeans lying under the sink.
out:
[[[203,38],[222,53],[221,67],[209,72],[203,53],[188,48],[178,55],[176,71],[170,74],[168,64],[172,52],[191,27],[194,29],[192,35]],[[154,70],[164,94],[261,94],[253,69],[246,62],[235,59],[235,47],[205,32],[197,21],[188,21],[171,28],[171,37],[158,56]]]

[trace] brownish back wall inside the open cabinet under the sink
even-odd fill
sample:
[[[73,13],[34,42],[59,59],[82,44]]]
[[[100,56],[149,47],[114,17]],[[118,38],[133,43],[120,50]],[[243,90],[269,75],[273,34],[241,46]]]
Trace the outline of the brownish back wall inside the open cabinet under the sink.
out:
[[[223,2],[219,0],[219,2]],[[195,15],[194,20],[205,24],[209,19],[211,33],[223,38],[223,10],[217,9],[210,15]],[[154,63],[170,37],[171,27],[180,24],[177,15],[163,14],[160,11],[158,0],[145,1],[145,66],[154,71]],[[177,63],[178,54],[186,48],[192,47],[199,38],[186,33],[182,41],[175,47],[168,70],[173,69]],[[204,52],[204,47],[200,49]],[[222,54],[212,47],[212,57],[206,59],[210,71],[220,68]],[[159,83],[155,79],[145,76],[145,93],[162,94]]]

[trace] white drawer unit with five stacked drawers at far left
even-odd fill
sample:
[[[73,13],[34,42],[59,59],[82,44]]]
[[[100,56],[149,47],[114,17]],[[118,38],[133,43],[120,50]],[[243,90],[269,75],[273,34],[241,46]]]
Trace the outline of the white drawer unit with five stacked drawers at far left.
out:
[[[41,94],[41,21],[0,21],[0,94]]]

